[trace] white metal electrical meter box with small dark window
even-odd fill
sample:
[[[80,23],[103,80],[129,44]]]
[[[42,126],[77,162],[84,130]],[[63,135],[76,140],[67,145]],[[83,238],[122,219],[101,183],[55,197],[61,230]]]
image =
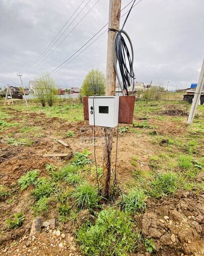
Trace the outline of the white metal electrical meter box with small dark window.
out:
[[[119,97],[89,97],[89,125],[116,127],[118,124]]]

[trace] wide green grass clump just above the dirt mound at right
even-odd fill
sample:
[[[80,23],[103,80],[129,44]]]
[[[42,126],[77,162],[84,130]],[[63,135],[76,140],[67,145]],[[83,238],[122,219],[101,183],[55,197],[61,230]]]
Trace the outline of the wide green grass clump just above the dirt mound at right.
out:
[[[157,174],[154,181],[150,184],[150,195],[159,198],[174,193],[179,187],[179,178],[172,172]]]

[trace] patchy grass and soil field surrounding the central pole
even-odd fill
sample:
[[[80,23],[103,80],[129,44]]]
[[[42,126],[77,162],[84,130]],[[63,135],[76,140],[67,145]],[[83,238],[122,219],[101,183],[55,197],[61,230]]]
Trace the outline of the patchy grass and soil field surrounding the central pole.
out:
[[[107,204],[98,193],[93,134],[83,121],[82,104],[0,106],[2,243],[40,215],[54,216],[58,228],[72,232],[78,252],[85,255],[170,255],[169,250],[181,255],[177,253],[187,254],[186,248],[194,255],[203,250],[202,236],[189,215],[203,215],[197,210],[204,189],[204,107],[198,107],[191,126],[186,125],[189,109],[182,101],[135,103],[133,124],[121,124],[118,129],[118,182]],[[114,134],[113,166],[116,129]],[[73,155],[70,159],[45,157],[49,152]],[[100,189],[102,129],[97,130],[96,156]],[[191,205],[191,213],[178,206],[181,202]],[[173,219],[171,211],[178,211],[181,219]],[[81,219],[81,214],[86,216]],[[165,215],[175,226],[163,220]],[[151,227],[145,224],[146,218]],[[182,240],[176,231],[184,220],[196,245]],[[176,243],[169,243],[172,235]]]

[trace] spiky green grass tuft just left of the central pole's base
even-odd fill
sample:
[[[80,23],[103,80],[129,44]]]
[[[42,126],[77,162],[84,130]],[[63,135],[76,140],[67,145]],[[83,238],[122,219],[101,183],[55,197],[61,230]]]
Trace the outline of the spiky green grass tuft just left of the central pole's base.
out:
[[[93,209],[98,207],[98,202],[101,199],[98,196],[98,191],[88,183],[78,185],[70,198],[74,200],[74,204],[79,208]]]

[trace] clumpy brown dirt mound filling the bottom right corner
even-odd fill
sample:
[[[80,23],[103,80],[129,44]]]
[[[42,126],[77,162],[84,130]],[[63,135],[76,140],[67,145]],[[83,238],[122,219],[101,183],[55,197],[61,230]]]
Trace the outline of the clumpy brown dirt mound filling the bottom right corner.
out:
[[[155,255],[204,255],[203,203],[204,195],[188,191],[148,202],[148,210],[138,222],[142,234],[154,239]]]

